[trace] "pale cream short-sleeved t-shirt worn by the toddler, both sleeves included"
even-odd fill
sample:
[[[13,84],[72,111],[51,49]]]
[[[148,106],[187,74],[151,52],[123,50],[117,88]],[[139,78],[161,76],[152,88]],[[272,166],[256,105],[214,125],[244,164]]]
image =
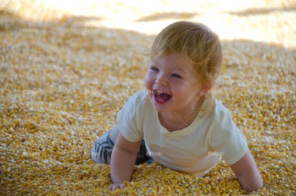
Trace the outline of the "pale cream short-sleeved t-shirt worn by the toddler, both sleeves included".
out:
[[[231,112],[214,96],[213,107],[188,127],[169,132],[159,121],[146,89],[136,92],[117,113],[117,125],[125,139],[132,142],[144,137],[147,151],[158,163],[192,177],[202,177],[223,158],[228,165],[239,161],[247,152],[246,137],[236,127]],[[221,157],[222,156],[222,157]]]

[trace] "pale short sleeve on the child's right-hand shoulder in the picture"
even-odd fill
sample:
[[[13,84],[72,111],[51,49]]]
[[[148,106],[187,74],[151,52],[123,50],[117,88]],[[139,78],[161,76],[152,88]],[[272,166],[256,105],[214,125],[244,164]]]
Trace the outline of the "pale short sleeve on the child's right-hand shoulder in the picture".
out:
[[[224,113],[213,128],[210,147],[221,154],[228,165],[239,161],[248,150],[247,138],[234,124],[231,113]]]

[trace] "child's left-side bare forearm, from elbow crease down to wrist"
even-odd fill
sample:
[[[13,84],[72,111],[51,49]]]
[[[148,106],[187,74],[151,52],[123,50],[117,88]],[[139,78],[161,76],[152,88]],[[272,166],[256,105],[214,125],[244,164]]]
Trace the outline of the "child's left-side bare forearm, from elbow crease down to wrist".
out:
[[[131,181],[137,154],[114,147],[110,159],[111,182],[113,184]]]

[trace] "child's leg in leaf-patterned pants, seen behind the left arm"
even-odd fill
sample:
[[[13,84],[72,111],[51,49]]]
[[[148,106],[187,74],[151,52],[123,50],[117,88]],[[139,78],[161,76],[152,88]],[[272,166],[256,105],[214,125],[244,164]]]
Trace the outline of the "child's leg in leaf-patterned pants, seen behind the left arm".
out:
[[[118,125],[116,125],[110,131],[104,133],[101,137],[99,137],[92,146],[91,157],[97,163],[105,163],[110,165],[111,153],[116,142],[116,139],[119,134]],[[151,159],[149,155],[146,155],[147,149],[145,146],[144,138],[142,139],[141,145],[139,147],[136,163],[135,165],[139,165],[144,161],[148,161],[148,163],[154,161]]]

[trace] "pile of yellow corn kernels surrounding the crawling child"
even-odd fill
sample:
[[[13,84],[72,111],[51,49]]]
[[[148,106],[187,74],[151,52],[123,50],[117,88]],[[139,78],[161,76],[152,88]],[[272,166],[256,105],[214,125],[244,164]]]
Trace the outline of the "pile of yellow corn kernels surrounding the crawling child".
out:
[[[295,1],[256,1],[256,8],[163,1],[168,13],[136,1],[93,2],[81,4],[79,16],[71,5],[63,11],[40,2],[0,5],[0,194],[296,195]],[[85,14],[98,7],[96,17]],[[192,7],[200,12],[190,14]],[[123,104],[145,88],[148,58],[141,53],[177,20],[203,22],[221,38],[223,67],[213,92],[247,137],[263,178],[257,191],[242,190],[224,160],[204,178],[157,162],[135,165],[125,189],[107,190],[110,165],[90,157]],[[154,35],[132,31],[144,26]]]

